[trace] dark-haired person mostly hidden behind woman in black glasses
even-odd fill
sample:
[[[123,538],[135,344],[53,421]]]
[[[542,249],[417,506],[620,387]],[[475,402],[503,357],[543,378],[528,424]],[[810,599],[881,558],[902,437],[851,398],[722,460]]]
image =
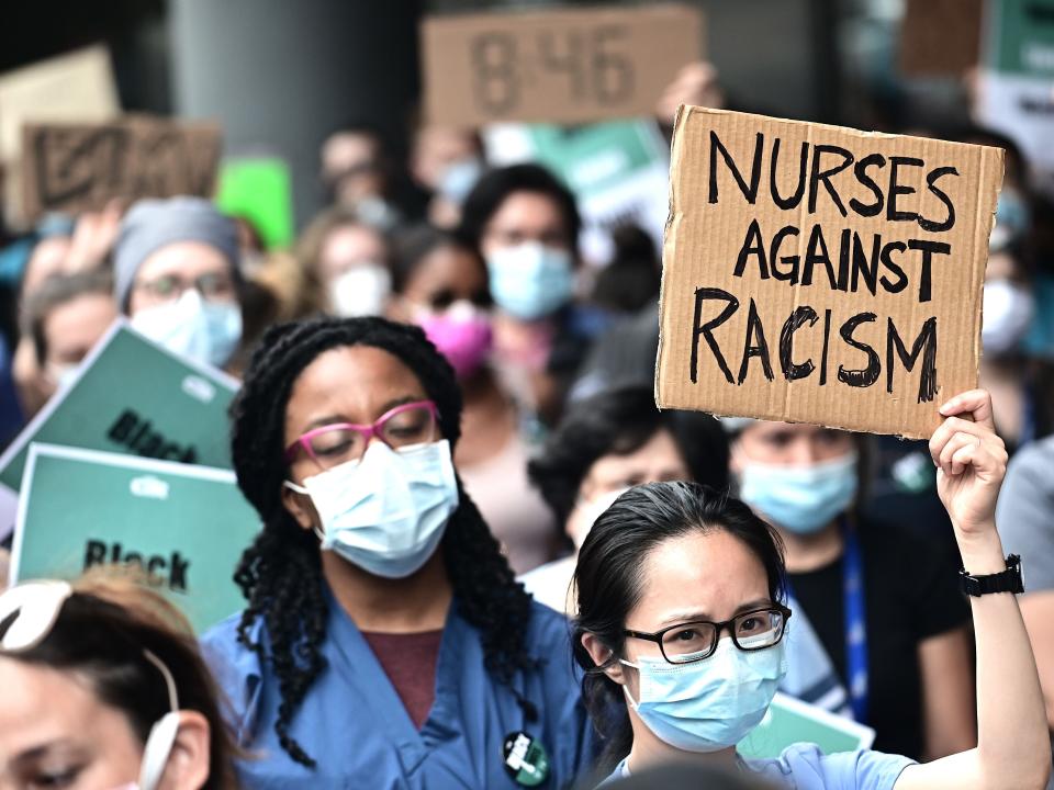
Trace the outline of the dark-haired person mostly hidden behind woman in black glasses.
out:
[[[520,582],[536,600],[573,616],[571,577],[597,516],[642,483],[693,479],[724,490],[728,441],[709,415],[660,411],[650,387],[628,387],[570,407],[528,473],[573,551]]]

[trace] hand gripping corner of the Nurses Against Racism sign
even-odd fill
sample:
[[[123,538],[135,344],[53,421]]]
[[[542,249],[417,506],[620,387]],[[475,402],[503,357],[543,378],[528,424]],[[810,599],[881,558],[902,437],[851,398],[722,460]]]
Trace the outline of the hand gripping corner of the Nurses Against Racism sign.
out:
[[[991,396],[984,390],[956,395],[941,406],[930,455],[937,489],[955,529],[964,535],[995,531],[996,499],[1007,472],[1007,450],[996,435]]]

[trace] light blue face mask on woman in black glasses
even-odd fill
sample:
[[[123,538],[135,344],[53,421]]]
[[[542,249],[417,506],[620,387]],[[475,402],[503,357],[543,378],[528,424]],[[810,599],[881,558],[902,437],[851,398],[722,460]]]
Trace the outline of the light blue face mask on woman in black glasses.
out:
[[[719,752],[735,746],[765,715],[787,673],[783,642],[741,651],[722,639],[709,658],[670,664],[639,658],[623,664],[639,673],[639,697],[626,698],[655,737],[686,752]]]

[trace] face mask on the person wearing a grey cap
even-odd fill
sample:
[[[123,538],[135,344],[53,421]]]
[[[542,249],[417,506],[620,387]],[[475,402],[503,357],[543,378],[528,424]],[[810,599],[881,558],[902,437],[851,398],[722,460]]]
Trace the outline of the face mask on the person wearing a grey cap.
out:
[[[136,313],[132,327],[170,351],[222,368],[242,340],[242,308],[206,302],[189,289],[175,302]]]

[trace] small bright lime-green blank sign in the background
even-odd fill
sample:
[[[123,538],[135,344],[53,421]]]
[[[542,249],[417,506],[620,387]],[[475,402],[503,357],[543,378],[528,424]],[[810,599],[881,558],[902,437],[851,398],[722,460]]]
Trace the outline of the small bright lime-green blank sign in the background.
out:
[[[232,216],[247,217],[268,249],[293,241],[292,177],[289,165],[281,159],[224,160],[220,166],[216,205]]]

